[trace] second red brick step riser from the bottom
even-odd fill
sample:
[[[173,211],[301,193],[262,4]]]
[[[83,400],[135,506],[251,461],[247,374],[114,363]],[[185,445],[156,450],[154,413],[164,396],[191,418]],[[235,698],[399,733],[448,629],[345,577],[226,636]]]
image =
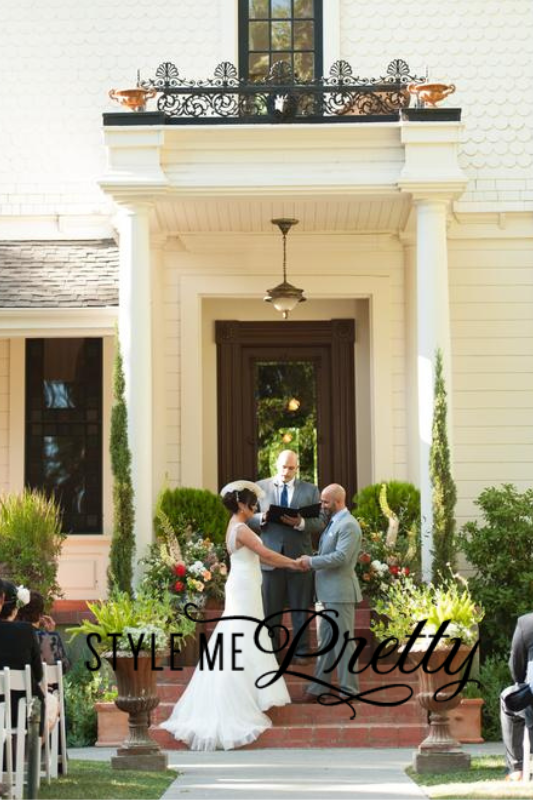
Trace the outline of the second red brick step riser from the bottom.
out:
[[[152,713],[152,722],[159,725],[167,720],[174,703],[161,703]],[[362,722],[374,724],[405,725],[422,723],[425,713],[418,703],[408,701],[400,706],[371,706],[366,703],[355,704],[356,717],[351,720],[348,706],[323,706],[320,703],[291,704],[281,708],[269,709],[268,716],[276,726],[293,725],[353,725]]]

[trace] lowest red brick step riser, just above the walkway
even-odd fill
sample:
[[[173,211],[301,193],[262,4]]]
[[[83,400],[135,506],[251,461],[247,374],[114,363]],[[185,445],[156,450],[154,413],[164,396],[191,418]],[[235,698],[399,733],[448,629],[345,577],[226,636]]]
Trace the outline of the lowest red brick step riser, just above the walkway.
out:
[[[167,731],[152,726],[150,735],[168,750],[187,750],[187,745],[178,742]],[[416,747],[427,735],[426,725],[294,725],[273,727],[266,730],[251,745],[243,750],[266,748],[324,748],[324,747]]]

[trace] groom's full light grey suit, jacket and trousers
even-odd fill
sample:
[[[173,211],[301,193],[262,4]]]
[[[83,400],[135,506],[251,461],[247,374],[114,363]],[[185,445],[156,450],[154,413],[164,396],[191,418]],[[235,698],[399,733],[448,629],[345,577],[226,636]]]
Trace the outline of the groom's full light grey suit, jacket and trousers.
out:
[[[338,511],[320,537],[318,555],[310,560],[311,568],[316,570],[316,596],[324,606],[324,611],[337,612],[331,618],[339,628],[339,639],[334,649],[318,656],[315,678],[333,682],[332,666],[344,648],[342,658],[337,664],[339,687],[350,694],[358,691],[357,676],[349,671],[350,659],[355,652],[354,642],[345,645],[345,634],[353,637],[355,626],[355,606],[362,600],[361,589],[355,565],[361,549],[361,528],[347,508]],[[322,650],[331,641],[332,628],[327,620],[319,619],[318,650]],[[355,664],[352,665],[352,668]],[[324,694],[327,687],[312,683],[309,694]]]

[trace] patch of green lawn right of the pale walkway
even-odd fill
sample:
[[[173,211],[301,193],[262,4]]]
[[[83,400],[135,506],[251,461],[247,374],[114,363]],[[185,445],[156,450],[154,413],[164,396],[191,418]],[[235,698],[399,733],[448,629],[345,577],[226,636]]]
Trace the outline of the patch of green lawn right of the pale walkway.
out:
[[[505,783],[503,756],[481,756],[472,759],[469,770],[453,773],[420,775],[411,767],[407,774],[429,797],[438,800],[508,800],[533,797],[532,783]]]

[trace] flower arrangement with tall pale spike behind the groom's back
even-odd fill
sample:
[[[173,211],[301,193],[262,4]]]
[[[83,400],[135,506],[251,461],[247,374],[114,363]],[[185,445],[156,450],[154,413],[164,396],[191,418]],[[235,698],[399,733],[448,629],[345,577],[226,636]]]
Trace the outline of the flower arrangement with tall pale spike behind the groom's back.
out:
[[[418,529],[411,523],[401,529],[401,512],[396,514],[387,502],[387,486],[381,485],[379,506],[387,530],[379,530],[360,518],[363,533],[361,552],[357,563],[357,574],[366,597],[375,603],[388,596],[391,587],[402,584],[404,579],[416,578],[418,570]]]

